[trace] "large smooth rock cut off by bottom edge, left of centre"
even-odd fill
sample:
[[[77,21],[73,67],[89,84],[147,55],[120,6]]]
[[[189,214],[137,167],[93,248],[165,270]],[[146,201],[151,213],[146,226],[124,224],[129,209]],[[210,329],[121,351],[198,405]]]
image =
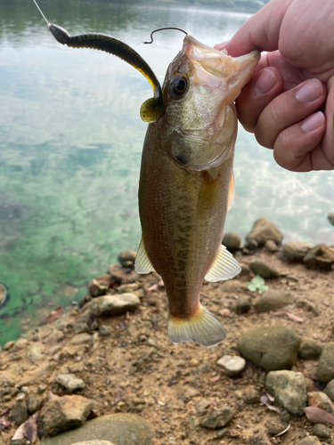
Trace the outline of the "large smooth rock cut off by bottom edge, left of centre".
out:
[[[118,413],[96,417],[74,431],[44,439],[41,445],[72,445],[91,437],[115,445],[151,445],[153,431],[143,417]]]

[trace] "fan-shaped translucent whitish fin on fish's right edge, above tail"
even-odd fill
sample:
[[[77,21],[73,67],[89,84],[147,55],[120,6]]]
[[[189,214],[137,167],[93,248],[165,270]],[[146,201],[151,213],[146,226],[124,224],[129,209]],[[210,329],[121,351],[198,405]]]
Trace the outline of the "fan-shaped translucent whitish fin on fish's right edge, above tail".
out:
[[[232,254],[221,245],[216,255],[215,263],[211,266],[205,279],[207,281],[221,281],[222,279],[232,279],[240,273],[240,264]]]

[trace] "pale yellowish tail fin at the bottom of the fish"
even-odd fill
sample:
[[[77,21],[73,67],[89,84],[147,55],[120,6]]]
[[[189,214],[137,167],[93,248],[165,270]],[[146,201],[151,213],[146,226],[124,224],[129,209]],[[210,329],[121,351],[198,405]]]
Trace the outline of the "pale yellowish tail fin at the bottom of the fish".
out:
[[[207,308],[200,305],[200,312],[188,319],[168,315],[168,336],[172,343],[192,341],[207,348],[223,342],[225,330]]]

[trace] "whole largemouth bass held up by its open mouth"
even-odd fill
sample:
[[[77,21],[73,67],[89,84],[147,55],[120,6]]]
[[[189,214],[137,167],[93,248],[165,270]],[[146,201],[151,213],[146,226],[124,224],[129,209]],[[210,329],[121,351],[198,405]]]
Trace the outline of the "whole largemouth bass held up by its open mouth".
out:
[[[139,273],[157,271],[168,303],[168,336],[213,346],[223,326],[200,304],[203,279],[231,279],[240,265],[222,245],[232,206],[237,115],[233,101],[259,53],[232,58],[187,35],[167,69],[166,109],[149,125],[139,183]]]

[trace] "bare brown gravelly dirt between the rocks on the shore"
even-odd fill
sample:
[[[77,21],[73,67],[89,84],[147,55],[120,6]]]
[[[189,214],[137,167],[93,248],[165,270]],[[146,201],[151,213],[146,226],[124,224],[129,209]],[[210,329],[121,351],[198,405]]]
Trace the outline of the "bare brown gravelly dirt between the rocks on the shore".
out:
[[[247,289],[251,275],[227,282],[205,283],[201,303],[222,322],[227,332],[226,340],[209,349],[191,343],[171,344],[167,337],[167,296],[164,287],[159,286],[159,276],[153,272],[138,281],[144,295],[139,310],[99,320],[100,325],[110,326],[109,336],[96,333],[92,344],[74,347],[70,344],[73,331],[65,328],[65,336],[59,344],[48,346],[48,368],[45,363],[31,365],[24,357],[8,364],[5,353],[1,352],[0,369],[14,372],[20,368],[24,370],[23,380],[36,386],[36,390],[37,384],[42,382],[47,390],[59,395],[66,392],[61,392],[53,383],[54,377],[73,372],[86,383],[86,389],[77,393],[97,401],[96,415],[138,413],[151,423],[155,431],[154,445],[243,445],[257,443],[252,440],[260,433],[270,438],[268,443],[295,445],[306,435],[313,434],[313,424],[305,416],[289,414],[277,401],[270,404],[281,409],[281,413],[260,402],[246,402],[246,394],[251,388],[257,389],[261,395],[267,394],[264,369],[248,362],[240,375],[229,377],[216,362],[225,354],[239,354],[237,341],[241,332],[254,326],[283,324],[294,328],[300,336],[312,337],[321,344],[333,341],[334,271],[315,271],[306,269],[303,264],[286,263],[281,251],[271,254],[265,249],[257,250],[253,255],[238,254],[237,259],[244,266],[256,259],[273,267],[280,272],[280,277],[266,280],[269,287],[289,290],[297,301],[309,304],[304,307],[290,304],[275,312],[257,312],[252,305],[248,313],[237,314],[235,307],[240,295],[250,295],[252,302],[257,298],[258,294]],[[291,320],[287,312],[297,319]],[[26,337],[32,340],[37,336],[47,345],[50,329],[60,328],[60,324],[68,326],[80,317],[76,310],[72,310],[60,320],[39,328],[38,332],[30,331]],[[317,360],[298,359],[292,369],[307,377],[309,391],[319,391]],[[41,375],[39,380],[36,379],[38,373]],[[33,377],[36,383],[31,384]],[[204,405],[208,405],[203,409],[204,415],[196,409],[203,399],[207,401]],[[10,409],[13,401],[0,401],[0,413]],[[224,406],[232,407],[234,416],[223,430],[217,432],[199,425],[206,415]],[[273,424],[278,424],[279,429],[281,425],[281,430],[289,425],[289,430],[274,437],[270,433]],[[14,430],[7,433],[11,431]],[[333,427],[331,436],[333,440]],[[329,439],[327,442],[331,443]]]

